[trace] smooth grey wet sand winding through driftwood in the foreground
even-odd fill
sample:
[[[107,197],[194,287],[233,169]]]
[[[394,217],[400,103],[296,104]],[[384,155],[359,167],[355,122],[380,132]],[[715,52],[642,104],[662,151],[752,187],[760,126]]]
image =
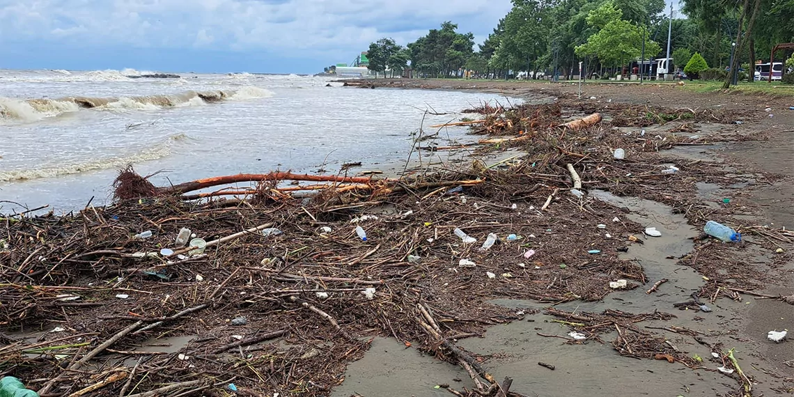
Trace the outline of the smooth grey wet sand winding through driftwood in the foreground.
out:
[[[598,199],[626,208],[623,215],[644,227],[652,226],[661,232],[661,237],[647,237],[642,230],[635,236],[645,244],[633,244],[620,257],[637,260],[645,268],[648,282],[634,290],[615,291],[602,302],[569,302],[557,305],[560,310],[602,312],[606,309],[623,310],[630,313],[649,313],[653,310],[674,314],[668,322],[648,321],[642,327],[687,327],[700,333],[707,344],[722,342],[725,349],[736,348],[742,368],[754,376],[764,374],[754,371],[762,366],[750,353],[761,346],[742,337],[738,312],[746,310],[747,303],[736,303],[727,299],[715,304],[707,303],[713,310],[703,313],[694,310],[677,310],[673,303],[689,299],[705,281],[692,268],[676,264],[676,259],[693,249],[692,237],[699,233],[688,225],[683,215],[673,214],[669,206],[640,198],[622,198],[605,191],[592,191]],[[605,233],[608,232],[607,230]],[[668,279],[657,293],[646,294],[646,290],[657,280]],[[542,310],[547,304],[516,299],[497,299],[492,303],[515,310]],[[750,303],[753,304],[753,303]],[[542,337],[538,333],[566,337],[567,326],[551,322],[553,317],[538,313],[528,315],[522,321],[489,328],[484,337],[458,341],[458,345],[470,352],[489,357],[484,368],[497,379],[510,376],[514,379],[512,391],[524,395],[538,396],[592,396],[592,395],[653,395],[653,396],[713,396],[734,391],[735,380],[716,371],[719,364],[708,361],[711,349],[697,343],[694,338],[662,330],[659,332],[669,342],[688,355],[704,358],[703,365],[710,370],[691,370],[682,364],[669,364],[665,360],[636,360],[621,357],[611,346],[614,334],[602,336],[604,344],[588,341],[585,345],[565,345],[555,337]],[[761,337],[758,340],[762,340]],[[538,365],[538,362],[553,364],[555,370]],[[350,364],[345,374],[345,383],[334,391],[335,396],[357,395],[450,395],[444,389],[435,389],[437,384],[449,384],[461,389],[472,387],[468,375],[451,364],[442,363],[433,357],[406,349],[391,338],[373,341],[366,356]],[[776,380],[761,381],[754,385],[759,395],[777,395],[771,387],[780,386]],[[768,393],[768,394],[767,394]]]

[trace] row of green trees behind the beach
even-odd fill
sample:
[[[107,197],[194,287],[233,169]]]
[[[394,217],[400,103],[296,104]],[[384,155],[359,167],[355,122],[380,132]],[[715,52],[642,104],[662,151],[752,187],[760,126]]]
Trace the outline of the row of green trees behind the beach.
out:
[[[410,65],[420,77],[472,71],[494,79],[518,73],[566,79],[577,78],[583,62],[584,75],[607,77],[642,56],[664,57],[670,28],[676,67],[684,68],[698,54],[706,66],[744,69],[752,80],[756,60],[769,59],[777,43],[794,42],[794,0],[683,0],[681,5],[671,24],[665,0],[513,0],[476,51],[472,33],[460,33],[445,21],[405,47],[389,38],[370,44],[368,67],[399,75]]]

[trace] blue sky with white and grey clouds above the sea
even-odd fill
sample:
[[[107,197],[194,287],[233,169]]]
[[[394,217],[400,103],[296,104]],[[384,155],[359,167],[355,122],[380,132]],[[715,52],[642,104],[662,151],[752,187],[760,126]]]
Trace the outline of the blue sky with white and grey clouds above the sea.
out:
[[[510,0],[0,0],[0,68],[314,73],[453,21],[480,43]]]

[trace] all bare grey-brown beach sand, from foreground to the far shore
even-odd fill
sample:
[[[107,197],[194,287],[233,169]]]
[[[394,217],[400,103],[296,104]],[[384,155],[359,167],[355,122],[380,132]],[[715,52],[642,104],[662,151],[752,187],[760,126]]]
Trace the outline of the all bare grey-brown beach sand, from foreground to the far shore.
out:
[[[478,90],[488,92],[510,92],[511,94],[553,93],[570,94],[569,84],[549,83],[484,83],[448,82],[442,80],[407,80],[389,84],[387,87],[406,87],[448,90]],[[575,88],[573,89],[575,92]],[[659,94],[661,92],[661,95]],[[663,106],[692,106],[742,108],[752,107],[763,111],[765,106],[784,106],[794,103],[794,98],[757,98],[749,95],[693,94],[678,87],[637,87],[616,85],[588,86],[586,94],[599,100],[615,102],[647,103]],[[751,202],[761,208],[761,219],[747,217],[742,209],[734,217],[743,216],[753,225],[794,227],[794,133],[775,131],[794,125],[794,111],[775,111],[775,118],[764,118],[760,122],[731,125],[722,129],[698,131],[700,134],[719,133],[769,133],[766,141],[743,141],[714,146],[676,148],[666,154],[671,157],[708,161],[724,164],[727,174],[742,174],[745,166],[759,168],[780,175],[771,183],[759,182],[757,175],[745,175],[746,182],[735,186],[719,183],[699,183],[699,195],[706,202],[717,202],[723,197],[749,194]],[[557,338],[542,337],[538,333],[565,337],[569,329],[547,314],[530,314],[522,321],[492,326],[482,337],[469,337],[458,341],[458,345],[470,352],[489,357],[484,366],[497,379],[504,376],[514,378],[511,390],[525,395],[542,396],[592,396],[592,395],[684,395],[711,396],[729,395],[738,390],[736,381],[718,372],[719,363],[710,362],[709,345],[721,343],[724,350],[734,348],[739,364],[753,379],[753,395],[784,395],[794,386],[794,368],[784,364],[794,360],[794,343],[774,344],[766,339],[769,330],[794,330],[794,307],[771,299],[753,299],[744,295],[741,302],[717,299],[707,303],[710,313],[693,310],[676,310],[673,303],[688,299],[707,282],[698,272],[678,264],[677,258],[692,251],[692,237],[700,230],[688,225],[682,214],[673,214],[673,209],[659,202],[639,198],[618,198],[608,192],[593,192],[598,198],[607,200],[626,210],[626,218],[641,225],[655,226],[661,237],[642,237],[645,245],[633,245],[623,254],[623,260],[635,260],[645,268],[649,279],[669,279],[654,294],[646,294],[646,286],[632,291],[618,291],[607,296],[603,302],[583,303],[574,301],[557,305],[560,310],[600,312],[605,309],[625,310],[631,313],[661,310],[676,315],[669,322],[643,322],[646,327],[663,327],[674,330],[685,327],[699,333],[700,342],[680,333],[665,331],[669,343],[690,356],[702,357],[705,367],[711,370],[691,370],[680,364],[669,364],[665,360],[634,360],[619,356],[609,342],[599,344],[588,341],[585,345],[565,345]],[[606,223],[606,222],[605,222]],[[608,230],[608,225],[607,225]],[[756,237],[757,238],[757,237]],[[779,274],[779,282],[769,285],[765,293],[791,295],[794,293],[794,260],[788,256],[781,266],[773,266],[774,252],[754,247],[754,237],[746,237],[750,245],[747,265]],[[514,308],[517,311],[542,310],[548,304],[513,299],[499,299],[495,304]],[[603,337],[604,341],[611,337]],[[538,365],[538,362],[553,364],[554,371]],[[406,348],[398,341],[377,338],[372,349],[363,359],[350,364],[345,382],[337,387],[335,396],[345,395],[449,395],[438,384],[449,384],[460,390],[471,387],[468,374],[457,366],[446,364],[433,357]]]

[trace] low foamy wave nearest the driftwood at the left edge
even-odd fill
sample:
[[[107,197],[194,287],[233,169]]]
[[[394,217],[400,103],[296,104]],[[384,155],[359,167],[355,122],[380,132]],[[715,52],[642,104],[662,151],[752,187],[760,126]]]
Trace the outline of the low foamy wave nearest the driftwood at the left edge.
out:
[[[158,160],[170,156],[175,142],[187,141],[189,137],[184,133],[177,133],[158,145],[146,148],[141,152],[129,156],[111,157],[106,159],[88,160],[75,164],[59,164],[58,166],[33,168],[27,170],[0,171],[0,182],[21,181],[29,179],[52,178],[54,176],[79,174],[104,170],[109,168],[122,168],[127,164],[137,164],[144,161]]]

